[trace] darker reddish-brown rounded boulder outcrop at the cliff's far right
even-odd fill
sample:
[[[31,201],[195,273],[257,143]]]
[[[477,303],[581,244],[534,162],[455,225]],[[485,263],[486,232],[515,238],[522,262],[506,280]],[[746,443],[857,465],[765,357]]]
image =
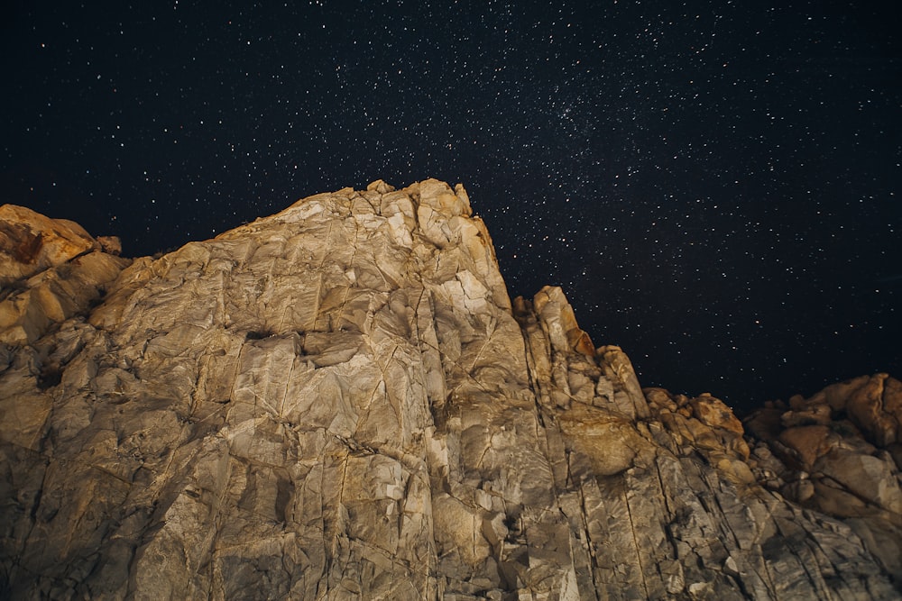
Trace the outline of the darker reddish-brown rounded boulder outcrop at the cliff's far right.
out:
[[[769,461],[778,475],[769,487],[842,518],[897,582],[902,475],[893,452],[900,417],[902,384],[876,374],[834,384],[808,399],[794,396],[788,407],[770,404],[747,420],[777,456]]]

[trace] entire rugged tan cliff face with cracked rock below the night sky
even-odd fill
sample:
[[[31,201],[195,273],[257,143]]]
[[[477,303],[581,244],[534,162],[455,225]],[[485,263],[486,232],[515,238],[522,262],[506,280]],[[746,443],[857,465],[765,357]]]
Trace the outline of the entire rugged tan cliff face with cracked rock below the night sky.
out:
[[[643,391],[559,288],[511,303],[463,187],[311,196],[158,260],[21,211],[4,596],[898,596],[896,380],[749,432]]]

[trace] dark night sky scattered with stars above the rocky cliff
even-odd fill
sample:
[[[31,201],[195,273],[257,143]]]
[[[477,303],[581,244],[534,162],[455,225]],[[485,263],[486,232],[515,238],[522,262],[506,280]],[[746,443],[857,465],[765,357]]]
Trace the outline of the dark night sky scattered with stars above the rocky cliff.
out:
[[[511,296],[564,287],[643,386],[902,375],[895,3],[223,5],[5,3],[0,201],[137,256],[460,181]]]

